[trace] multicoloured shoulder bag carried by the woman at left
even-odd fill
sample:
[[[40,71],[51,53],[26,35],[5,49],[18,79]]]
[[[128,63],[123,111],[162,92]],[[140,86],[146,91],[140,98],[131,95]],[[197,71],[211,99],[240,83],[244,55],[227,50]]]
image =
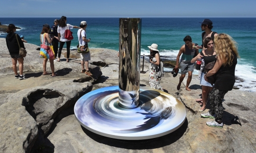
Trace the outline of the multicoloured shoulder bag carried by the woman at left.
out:
[[[41,35],[40,35],[41,39]],[[44,34],[44,43],[40,45],[40,58],[44,59],[55,59],[55,52],[53,45],[46,45],[46,34]]]

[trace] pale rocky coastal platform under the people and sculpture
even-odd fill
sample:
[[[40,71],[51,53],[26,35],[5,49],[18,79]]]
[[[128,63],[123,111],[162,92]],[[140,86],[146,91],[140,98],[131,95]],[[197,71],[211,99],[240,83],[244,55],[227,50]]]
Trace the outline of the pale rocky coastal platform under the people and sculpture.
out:
[[[256,95],[232,90],[223,99],[223,128],[208,127],[201,118],[201,96],[197,76],[193,76],[190,92],[176,90],[179,76],[165,73],[160,84],[183,102],[187,110],[184,124],[171,134],[148,140],[112,139],[88,131],[73,114],[74,103],[85,93],[101,87],[118,85],[117,52],[90,49],[89,64],[93,76],[81,73],[80,55],[71,51],[71,60],[54,62],[59,76],[43,75],[43,59],[39,47],[25,43],[27,57],[24,74],[29,78],[14,78],[11,58],[0,38],[0,153],[256,153]],[[142,62],[142,60],[141,60]],[[142,63],[141,63],[142,66]],[[145,61],[144,71],[149,63]],[[141,68],[142,70],[142,68]],[[50,63],[47,63],[50,72]],[[148,87],[148,73],[141,73],[140,85]],[[207,104],[207,112],[210,105]],[[238,116],[241,125],[231,123]]]

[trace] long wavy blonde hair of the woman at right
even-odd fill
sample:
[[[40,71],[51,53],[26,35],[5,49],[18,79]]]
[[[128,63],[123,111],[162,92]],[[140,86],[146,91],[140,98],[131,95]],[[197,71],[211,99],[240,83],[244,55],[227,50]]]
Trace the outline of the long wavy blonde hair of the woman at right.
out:
[[[238,55],[237,42],[229,34],[218,34],[214,37],[214,50],[216,51],[218,58],[222,61],[223,65],[232,65],[234,59],[232,51]]]

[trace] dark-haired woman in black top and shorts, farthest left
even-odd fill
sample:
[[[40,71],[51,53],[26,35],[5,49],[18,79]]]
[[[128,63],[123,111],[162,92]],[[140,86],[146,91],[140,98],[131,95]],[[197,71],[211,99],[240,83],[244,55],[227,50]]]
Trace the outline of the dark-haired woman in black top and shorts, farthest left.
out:
[[[19,54],[19,46],[18,43],[20,45],[21,48],[25,48],[24,43],[22,42],[21,38],[19,37],[19,35],[17,34],[17,38],[16,38],[16,26],[14,26],[13,24],[9,24],[6,32],[8,33],[6,36],[6,45],[7,48],[9,50],[9,54],[11,57],[11,61],[12,61],[12,70],[15,73],[15,78],[16,79],[27,79],[27,77],[25,75],[23,75],[23,61],[24,58],[20,56]],[[17,41],[18,39],[18,41]],[[17,71],[17,60],[18,60],[18,70],[19,70],[19,75],[18,75],[18,71]]]

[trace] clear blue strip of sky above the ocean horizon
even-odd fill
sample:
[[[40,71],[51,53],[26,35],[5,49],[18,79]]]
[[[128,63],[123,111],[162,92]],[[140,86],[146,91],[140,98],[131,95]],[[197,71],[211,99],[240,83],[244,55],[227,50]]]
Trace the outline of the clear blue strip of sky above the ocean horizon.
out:
[[[1,0],[0,17],[256,17],[256,0]]]

